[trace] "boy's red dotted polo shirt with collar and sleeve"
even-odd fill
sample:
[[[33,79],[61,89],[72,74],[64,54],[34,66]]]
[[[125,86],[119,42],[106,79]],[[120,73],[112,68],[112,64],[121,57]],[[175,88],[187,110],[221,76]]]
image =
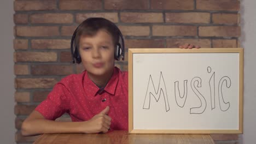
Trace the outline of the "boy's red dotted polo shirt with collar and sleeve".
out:
[[[73,122],[88,121],[109,106],[110,129],[128,130],[128,73],[117,67],[104,89],[92,82],[85,70],[58,82],[36,110],[55,120],[67,112]]]

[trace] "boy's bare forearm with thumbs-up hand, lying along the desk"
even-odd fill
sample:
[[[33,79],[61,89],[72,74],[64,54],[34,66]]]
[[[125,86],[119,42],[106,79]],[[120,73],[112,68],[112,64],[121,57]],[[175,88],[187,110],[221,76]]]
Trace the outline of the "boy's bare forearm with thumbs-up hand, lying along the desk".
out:
[[[38,111],[33,111],[21,126],[24,136],[53,133],[107,133],[111,118],[107,116],[109,107],[84,122],[56,122],[45,119]]]

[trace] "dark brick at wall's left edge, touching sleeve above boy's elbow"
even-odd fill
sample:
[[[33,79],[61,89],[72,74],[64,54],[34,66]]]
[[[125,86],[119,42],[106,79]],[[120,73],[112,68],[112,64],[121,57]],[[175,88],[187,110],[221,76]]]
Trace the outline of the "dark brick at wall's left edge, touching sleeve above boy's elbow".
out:
[[[30,113],[36,108],[36,105],[15,105],[15,115],[30,115]]]

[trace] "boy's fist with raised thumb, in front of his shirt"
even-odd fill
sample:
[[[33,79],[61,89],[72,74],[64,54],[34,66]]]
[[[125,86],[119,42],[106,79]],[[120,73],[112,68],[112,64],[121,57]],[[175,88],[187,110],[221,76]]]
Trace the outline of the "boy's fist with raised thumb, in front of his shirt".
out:
[[[109,106],[87,121],[85,133],[107,133],[111,124],[111,118],[107,115],[108,111]]]

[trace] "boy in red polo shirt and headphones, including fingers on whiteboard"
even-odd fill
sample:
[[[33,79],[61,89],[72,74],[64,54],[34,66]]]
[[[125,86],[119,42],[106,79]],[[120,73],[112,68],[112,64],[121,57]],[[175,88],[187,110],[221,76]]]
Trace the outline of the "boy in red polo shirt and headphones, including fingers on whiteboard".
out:
[[[22,123],[22,135],[128,130],[128,73],[114,67],[115,59],[124,58],[118,27],[103,18],[89,18],[75,30],[71,44],[73,59],[86,70],[54,86]],[[65,112],[73,122],[54,121]]]

